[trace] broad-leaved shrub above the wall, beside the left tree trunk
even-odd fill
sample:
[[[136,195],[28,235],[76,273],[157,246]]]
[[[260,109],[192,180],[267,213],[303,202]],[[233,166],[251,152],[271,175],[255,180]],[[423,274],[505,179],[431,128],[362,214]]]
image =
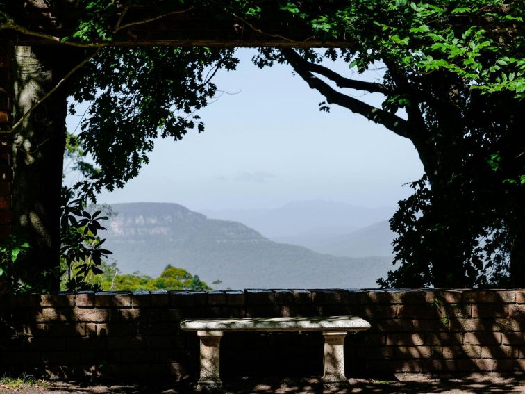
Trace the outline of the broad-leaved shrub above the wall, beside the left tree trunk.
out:
[[[60,219],[60,254],[64,265],[63,274],[67,277],[65,289],[99,290],[86,279],[90,275],[103,273],[99,268],[102,259],[112,254],[101,247],[105,240],[97,237],[99,230],[106,229],[100,221],[108,220],[108,217],[101,216],[101,211],[92,214],[85,211],[83,199],[73,199],[73,196],[73,190],[64,186]]]

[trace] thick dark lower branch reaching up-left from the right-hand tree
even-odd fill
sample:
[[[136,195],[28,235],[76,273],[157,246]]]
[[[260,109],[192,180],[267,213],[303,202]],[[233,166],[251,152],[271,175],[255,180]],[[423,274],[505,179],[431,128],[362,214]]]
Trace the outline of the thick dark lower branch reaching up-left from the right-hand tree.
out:
[[[308,83],[310,88],[317,90],[326,97],[326,101],[328,101],[329,104],[338,104],[339,106],[348,108],[353,113],[363,115],[368,120],[372,120],[372,122],[383,124],[383,126],[390,131],[393,131],[398,136],[409,139],[412,138],[411,133],[408,130],[408,122],[403,118],[334,90],[328,85],[328,83],[317,78],[317,76],[313,75],[308,69],[306,69],[303,66],[303,58],[301,58],[301,56],[299,56],[299,54],[293,49],[281,49],[281,53],[294,68],[295,72],[297,72],[297,74]]]

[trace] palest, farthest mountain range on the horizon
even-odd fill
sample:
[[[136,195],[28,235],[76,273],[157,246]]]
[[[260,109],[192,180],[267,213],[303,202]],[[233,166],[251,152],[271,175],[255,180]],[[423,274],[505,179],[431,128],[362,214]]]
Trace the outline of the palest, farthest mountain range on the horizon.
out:
[[[208,217],[235,220],[269,238],[310,233],[314,238],[348,234],[375,222],[389,219],[393,207],[365,208],[343,202],[290,202],[275,209],[200,210]]]

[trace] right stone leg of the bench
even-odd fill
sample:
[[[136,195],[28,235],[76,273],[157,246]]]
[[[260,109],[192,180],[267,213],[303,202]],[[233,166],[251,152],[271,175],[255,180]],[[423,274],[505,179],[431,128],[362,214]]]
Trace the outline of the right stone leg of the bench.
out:
[[[344,337],[346,332],[324,331],[324,376],[326,387],[344,386],[348,379],[344,377]]]

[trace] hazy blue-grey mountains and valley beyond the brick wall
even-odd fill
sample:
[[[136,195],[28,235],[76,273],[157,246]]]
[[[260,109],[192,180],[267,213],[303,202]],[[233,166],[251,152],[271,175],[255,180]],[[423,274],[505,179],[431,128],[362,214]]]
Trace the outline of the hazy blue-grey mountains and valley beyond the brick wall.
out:
[[[272,240],[243,223],[208,218],[179,204],[113,204],[117,215],[110,219],[106,226],[108,231],[103,236],[124,273],[140,271],[154,277],[165,265],[171,264],[199,275],[208,284],[217,279],[222,281],[215,288],[377,287],[376,279],[385,276],[392,267],[391,252],[385,248],[385,243],[391,242],[390,234],[384,231],[387,224],[383,221],[365,226],[365,229],[351,229],[367,224],[367,213],[371,221],[379,219],[381,214],[387,218],[389,211],[387,208],[369,211],[345,205],[300,202],[267,210],[266,215],[261,210],[256,213],[244,211],[252,217],[252,224],[257,225],[258,221],[265,226],[264,231],[274,235],[275,240]],[[350,225],[341,226],[344,222],[339,220],[333,222],[334,227],[325,226],[331,220],[326,213],[331,209],[336,215],[338,207],[347,208],[340,217],[353,211],[356,221],[347,221]],[[322,214],[317,215],[319,212]],[[224,217],[226,213],[220,215]],[[239,216],[231,215],[235,219]],[[325,222],[322,217],[326,217]],[[286,238],[282,238],[281,243],[276,242],[278,231],[272,230],[271,224],[274,222],[278,229],[281,225],[278,219],[288,223],[288,237],[293,238],[294,229],[306,231],[303,238],[295,234],[298,245],[291,245],[292,239],[287,241]],[[335,229],[349,233],[338,233]],[[311,243],[308,243],[308,233]],[[310,244],[313,247],[308,249],[306,246]],[[354,245],[360,256],[344,254],[351,250],[342,245]],[[326,250],[331,249],[335,253],[328,254]]]

